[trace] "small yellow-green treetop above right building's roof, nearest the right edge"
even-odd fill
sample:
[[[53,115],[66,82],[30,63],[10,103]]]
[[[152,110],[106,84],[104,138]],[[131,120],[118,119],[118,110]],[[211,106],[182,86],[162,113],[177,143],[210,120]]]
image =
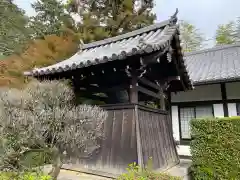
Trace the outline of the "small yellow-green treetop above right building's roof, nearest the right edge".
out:
[[[234,22],[229,22],[227,24],[221,24],[218,26],[216,31],[216,44],[233,44],[236,42],[234,37]]]

